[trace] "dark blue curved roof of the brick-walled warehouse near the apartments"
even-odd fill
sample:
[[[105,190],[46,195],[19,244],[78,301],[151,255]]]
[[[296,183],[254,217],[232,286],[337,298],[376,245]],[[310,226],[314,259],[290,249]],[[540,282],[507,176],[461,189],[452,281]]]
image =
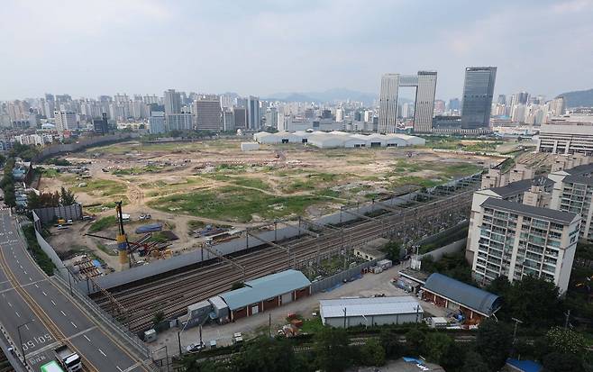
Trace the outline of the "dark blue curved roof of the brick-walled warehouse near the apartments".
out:
[[[424,289],[486,316],[500,307],[501,299],[497,295],[439,273],[433,273],[426,279]]]

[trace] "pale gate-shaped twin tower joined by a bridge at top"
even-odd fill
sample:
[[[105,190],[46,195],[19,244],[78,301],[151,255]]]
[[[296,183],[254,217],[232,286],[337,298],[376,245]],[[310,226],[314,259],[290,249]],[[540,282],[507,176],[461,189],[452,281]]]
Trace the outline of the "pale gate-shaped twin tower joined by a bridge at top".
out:
[[[397,96],[400,86],[413,86],[416,88],[414,131],[431,132],[433,127],[434,94],[436,92],[435,71],[418,71],[417,75],[385,74],[381,77],[377,132],[396,132]]]

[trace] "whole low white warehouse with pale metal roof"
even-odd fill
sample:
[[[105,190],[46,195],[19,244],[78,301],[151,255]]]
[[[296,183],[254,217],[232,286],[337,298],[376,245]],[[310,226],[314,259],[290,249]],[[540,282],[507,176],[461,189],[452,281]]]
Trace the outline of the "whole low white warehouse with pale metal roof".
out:
[[[403,295],[321,300],[319,314],[324,325],[348,328],[421,322],[424,310],[414,297]]]

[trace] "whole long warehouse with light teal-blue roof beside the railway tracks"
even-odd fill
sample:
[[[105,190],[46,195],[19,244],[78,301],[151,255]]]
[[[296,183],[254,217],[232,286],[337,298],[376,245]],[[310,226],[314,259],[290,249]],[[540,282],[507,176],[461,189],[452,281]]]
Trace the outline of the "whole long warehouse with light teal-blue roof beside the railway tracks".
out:
[[[297,270],[286,270],[245,282],[220,297],[229,306],[231,322],[311,295],[311,282]]]

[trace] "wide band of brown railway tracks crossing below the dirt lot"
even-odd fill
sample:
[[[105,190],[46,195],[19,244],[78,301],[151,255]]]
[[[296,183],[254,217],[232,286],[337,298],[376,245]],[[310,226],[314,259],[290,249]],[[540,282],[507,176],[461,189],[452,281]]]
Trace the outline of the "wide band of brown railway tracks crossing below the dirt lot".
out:
[[[286,268],[303,268],[319,255],[342,250],[351,250],[381,236],[397,236],[409,230],[412,225],[423,225],[434,216],[463,211],[469,213],[471,195],[475,187],[459,194],[421,204],[415,208],[403,209],[399,213],[386,213],[372,221],[363,221],[311,238],[291,241],[282,246],[286,250],[266,247],[251,250],[233,260],[245,268],[247,279],[262,277]],[[155,313],[162,311],[167,317],[186,313],[190,304],[205,300],[230,290],[233,283],[242,281],[243,274],[230,263],[214,259],[201,268],[160,277],[151,282],[113,291],[116,300],[127,310],[123,322],[131,331],[150,328]],[[95,298],[105,311],[113,313],[107,298]]]

